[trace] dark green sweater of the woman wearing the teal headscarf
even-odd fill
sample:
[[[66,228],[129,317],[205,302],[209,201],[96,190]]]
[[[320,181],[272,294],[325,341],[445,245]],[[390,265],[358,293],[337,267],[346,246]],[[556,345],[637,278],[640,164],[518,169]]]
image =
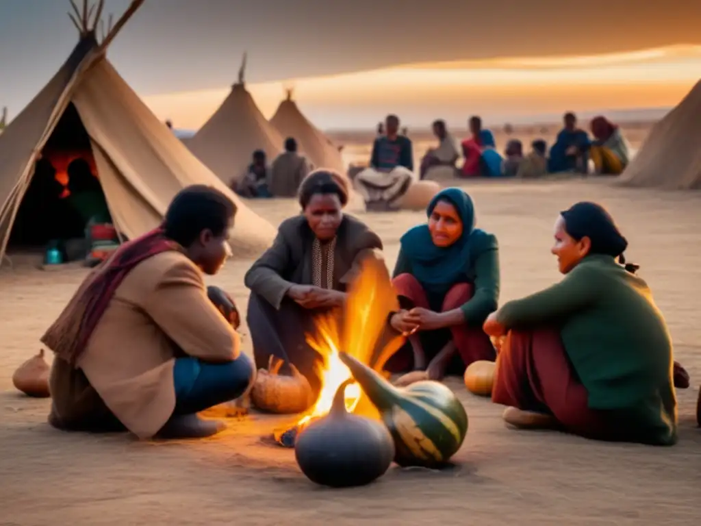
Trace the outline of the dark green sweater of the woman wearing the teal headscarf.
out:
[[[496,311],[499,301],[499,250],[496,237],[490,234],[484,245],[483,248],[475,248],[472,261],[465,262],[465,281],[475,286],[475,293],[461,306],[461,311],[465,315],[465,322],[471,327],[482,327],[486,317]],[[400,274],[413,274],[411,262],[402,250],[397,256],[393,277]],[[427,296],[431,309],[440,311],[444,296],[429,292]]]

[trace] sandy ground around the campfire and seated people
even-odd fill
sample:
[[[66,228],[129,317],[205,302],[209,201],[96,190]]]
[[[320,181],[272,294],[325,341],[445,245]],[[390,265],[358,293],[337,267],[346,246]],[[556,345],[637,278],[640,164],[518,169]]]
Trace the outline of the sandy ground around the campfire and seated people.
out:
[[[0,525],[337,524],[699,525],[701,429],[693,414],[701,379],[701,194],[632,191],[601,183],[473,184],[479,224],[501,243],[502,301],[558,278],[550,256],[559,210],[581,199],[607,205],[628,236],[669,322],[676,359],[694,389],[679,392],[679,445],[596,443],[561,433],[507,429],[502,408],[449,382],[470,430],[450,471],[393,466],[351,490],[312,485],[291,450],[261,443],[274,417],[231,421],[199,442],[143,443],[126,435],[62,433],[46,424],[48,400],[13,391],[15,367],[85,275],[42,272],[15,260],[0,271]],[[277,224],[291,201],[254,203]],[[358,214],[381,234],[389,264],[402,232],[421,213]],[[245,308],[243,274],[231,262],[212,283]],[[250,351],[250,339],[246,342]]]

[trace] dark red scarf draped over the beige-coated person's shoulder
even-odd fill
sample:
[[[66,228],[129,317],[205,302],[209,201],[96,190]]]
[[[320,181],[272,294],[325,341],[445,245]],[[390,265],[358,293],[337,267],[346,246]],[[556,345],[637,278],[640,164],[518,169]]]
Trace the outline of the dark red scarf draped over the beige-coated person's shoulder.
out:
[[[41,342],[75,364],[124,278],[145,259],[169,250],[182,251],[182,247],[166,238],[161,228],[124,243],[83,281]]]

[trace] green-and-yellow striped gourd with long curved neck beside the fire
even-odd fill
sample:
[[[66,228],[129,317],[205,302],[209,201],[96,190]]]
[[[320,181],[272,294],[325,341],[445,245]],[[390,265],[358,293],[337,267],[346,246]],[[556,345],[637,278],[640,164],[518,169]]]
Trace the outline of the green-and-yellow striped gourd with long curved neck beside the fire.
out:
[[[440,466],[460,449],[468,414],[447,386],[425,380],[400,389],[352,356],[340,357],[381,413],[395,442],[397,464]]]

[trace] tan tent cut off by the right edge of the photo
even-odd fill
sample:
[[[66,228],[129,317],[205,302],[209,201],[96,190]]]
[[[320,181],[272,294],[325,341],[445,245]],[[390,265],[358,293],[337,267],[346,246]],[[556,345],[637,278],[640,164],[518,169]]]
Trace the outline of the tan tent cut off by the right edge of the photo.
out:
[[[701,189],[701,81],[653,126],[621,184]]]

